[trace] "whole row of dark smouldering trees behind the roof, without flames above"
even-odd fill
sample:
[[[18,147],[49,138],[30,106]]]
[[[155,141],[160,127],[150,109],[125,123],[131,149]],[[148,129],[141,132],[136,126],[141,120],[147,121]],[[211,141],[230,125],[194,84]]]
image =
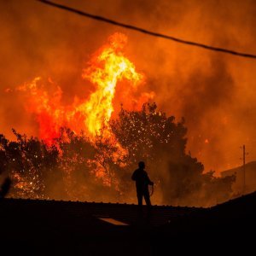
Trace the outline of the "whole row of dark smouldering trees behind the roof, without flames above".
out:
[[[115,140],[100,135],[95,143],[68,128],[50,146],[15,130],[15,141],[0,134],[0,172],[12,180],[9,196],[136,202],[131,173],[144,160],[156,184],[153,203],[208,207],[232,197],[234,176],[204,173],[202,163],[186,153],[184,119],[175,122],[146,103],[140,111],[121,108],[109,125]]]

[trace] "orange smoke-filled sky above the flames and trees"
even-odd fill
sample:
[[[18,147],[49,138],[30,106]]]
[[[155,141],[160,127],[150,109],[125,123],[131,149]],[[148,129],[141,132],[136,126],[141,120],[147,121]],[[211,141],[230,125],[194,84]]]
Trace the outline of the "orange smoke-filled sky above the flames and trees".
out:
[[[256,54],[255,1],[55,1],[96,15],[202,44]],[[51,78],[63,102],[88,96],[81,78],[90,55],[113,32],[128,37],[125,55],[146,77],[160,109],[185,118],[187,150],[217,172],[255,160],[256,61],[143,35],[53,9],[37,1],[0,1],[0,132],[37,134],[24,99],[6,88]]]

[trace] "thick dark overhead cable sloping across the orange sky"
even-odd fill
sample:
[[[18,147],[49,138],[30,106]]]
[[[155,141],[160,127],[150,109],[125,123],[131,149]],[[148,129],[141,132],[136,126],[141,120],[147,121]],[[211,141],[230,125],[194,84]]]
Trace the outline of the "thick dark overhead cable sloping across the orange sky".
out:
[[[74,13],[74,14],[82,15],[82,16],[85,16],[85,17],[93,19],[93,20],[99,20],[99,21],[106,22],[108,24],[112,24],[114,26],[121,26],[121,27],[125,27],[127,29],[131,29],[131,30],[134,30],[134,31],[137,31],[137,32],[143,32],[143,33],[148,34],[150,36],[172,40],[172,41],[175,41],[179,44],[188,44],[188,45],[191,45],[191,46],[200,47],[200,48],[203,48],[203,49],[209,49],[209,50],[212,50],[212,51],[219,51],[219,52],[223,52],[223,53],[230,54],[230,55],[237,55],[237,56],[241,56],[241,57],[256,59],[256,55],[253,55],[253,54],[238,52],[238,51],[232,50],[232,49],[224,49],[224,48],[214,47],[214,46],[207,45],[207,44],[195,43],[195,42],[192,42],[192,41],[183,40],[181,38],[175,38],[175,37],[172,37],[172,36],[168,36],[166,34],[161,34],[159,32],[148,31],[148,30],[146,30],[144,28],[141,28],[141,27],[138,27],[138,26],[132,26],[132,25],[129,25],[129,24],[125,24],[125,23],[116,21],[116,20],[110,20],[108,18],[99,16],[99,15],[91,15],[91,14],[85,13],[84,11],[81,11],[79,9],[73,9],[71,7],[68,7],[68,6],[59,4],[59,3],[52,3],[52,2],[49,2],[49,1],[46,1],[46,0],[36,0],[36,1],[44,3],[44,4],[48,4],[50,6],[58,8],[58,9],[65,9],[69,12]]]

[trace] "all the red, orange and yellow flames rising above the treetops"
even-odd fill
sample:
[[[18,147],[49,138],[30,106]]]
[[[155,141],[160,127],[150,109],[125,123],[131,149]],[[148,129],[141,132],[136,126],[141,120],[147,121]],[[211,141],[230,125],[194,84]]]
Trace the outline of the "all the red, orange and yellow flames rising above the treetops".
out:
[[[124,55],[126,40],[124,34],[114,33],[108,38],[108,43],[92,56],[89,67],[82,74],[84,79],[96,85],[96,90],[90,94],[89,99],[87,97],[88,100],[76,97],[71,106],[63,106],[61,88],[57,86],[57,90],[50,94],[40,84],[40,78],[19,87],[19,90],[28,92],[26,108],[36,115],[39,137],[46,143],[52,143],[59,136],[62,126],[77,133],[85,131],[91,141],[100,132],[105,137],[111,137],[108,121],[113,113],[116,85],[123,79],[128,81],[130,88],[122,88],[122,91],[126,101],[136,102],[133,108],[141,108],[142,101],[146,102],[154,96],[153,93],[143,93],[136,99],[132,95],[131,91],[137,90],[138,85],[142,84],[143,75],[137,73],[134,64]],[[49,84],[54,83],[49,79]]]

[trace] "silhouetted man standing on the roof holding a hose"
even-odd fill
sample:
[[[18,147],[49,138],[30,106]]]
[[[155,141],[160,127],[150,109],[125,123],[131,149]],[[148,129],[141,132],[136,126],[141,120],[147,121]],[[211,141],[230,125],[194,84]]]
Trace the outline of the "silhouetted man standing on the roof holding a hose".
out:
[[[143,196],[148,207],[151,206],[148,185],[154,185],[149,179],[148,173],[144,170],[145,163],[143,161],[138,163],[138,169],[135,170],[131,176],[131,179],[136,181],[137,189],[137,202],[139,206],[143,206]]]

